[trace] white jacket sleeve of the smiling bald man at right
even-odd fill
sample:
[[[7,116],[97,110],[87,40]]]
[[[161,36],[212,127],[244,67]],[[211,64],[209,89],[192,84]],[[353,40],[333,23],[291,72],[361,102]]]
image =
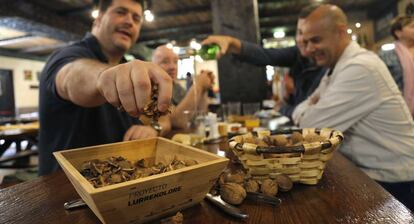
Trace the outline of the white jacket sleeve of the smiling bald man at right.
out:
[[[346,131],[380,104],[375,75],[366,67],[349,65],[336,75],[319,101],[296,118],[300,127]]]

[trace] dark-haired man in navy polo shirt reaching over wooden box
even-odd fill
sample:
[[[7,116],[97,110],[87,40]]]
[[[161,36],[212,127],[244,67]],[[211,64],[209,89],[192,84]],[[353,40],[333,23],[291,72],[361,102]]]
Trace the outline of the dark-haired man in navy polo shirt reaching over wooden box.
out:
[[[51,55],[40,79],[39,175],[58,169],[54,151],[170,129],[168,117],[160,121],[162,130],[138,125],[154,83],[160,111],[167,110],[172,92],[172,80],[160,67],[123,58],[141,25],[139,1],[101,0],[91,34]]]

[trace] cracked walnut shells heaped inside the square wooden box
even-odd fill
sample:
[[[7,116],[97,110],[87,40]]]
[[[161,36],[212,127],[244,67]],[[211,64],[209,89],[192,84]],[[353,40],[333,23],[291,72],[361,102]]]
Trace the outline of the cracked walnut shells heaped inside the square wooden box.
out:
[[[151,166],[148,159],[140,159],[133,164],[122,156],[113,156],[103,161],[95,159],[84,162],[80,173],[98,188],[196,164],[198,162],[195,160],[178,160],[174,157],[169,164],[158,163]]]

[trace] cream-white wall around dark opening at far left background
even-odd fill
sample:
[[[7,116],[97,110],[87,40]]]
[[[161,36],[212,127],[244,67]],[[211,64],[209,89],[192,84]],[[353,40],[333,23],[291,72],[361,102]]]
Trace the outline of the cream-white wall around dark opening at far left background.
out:
[[[42,71],[44,64],[42,61],[0,56],[0,69],[13,70],[14,99],[17,108],[38,107],[39,89],[31,89],[30,85],[39,85],[37,72]],[[31,80],[25,80],[25,71],[32,73]]]

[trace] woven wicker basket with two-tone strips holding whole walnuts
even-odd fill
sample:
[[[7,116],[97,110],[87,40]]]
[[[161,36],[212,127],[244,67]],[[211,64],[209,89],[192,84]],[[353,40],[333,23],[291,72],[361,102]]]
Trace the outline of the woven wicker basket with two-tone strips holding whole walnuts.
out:
[[[263,140],[265,136],[277,134],[289,137],[294,131],[300,132],[303,136],[315,133],[326,140],[296,146],[264,147],[246,143],[247,138]],[[293,182],[314,185],[322,178],[326,162],[332,158],[342,140],[343,135],[340,131],[329,128],[285,129],[235,136],[229,140],[229,146],[253,179],[274,178],[283,173],[288,175]]]

